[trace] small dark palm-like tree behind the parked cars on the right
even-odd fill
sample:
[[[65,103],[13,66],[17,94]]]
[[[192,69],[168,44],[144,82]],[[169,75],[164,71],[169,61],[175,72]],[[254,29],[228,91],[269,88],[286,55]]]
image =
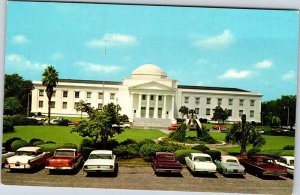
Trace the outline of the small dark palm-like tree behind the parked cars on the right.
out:
[[[234,123],[226,135],[227,143],[237,143],[240,145],[241,154],[246,154],[247,146],[260,147],[266,143],[265,139],[256,130],[255,125],[246,122],[246,115],[242,116],[242,122]]]

